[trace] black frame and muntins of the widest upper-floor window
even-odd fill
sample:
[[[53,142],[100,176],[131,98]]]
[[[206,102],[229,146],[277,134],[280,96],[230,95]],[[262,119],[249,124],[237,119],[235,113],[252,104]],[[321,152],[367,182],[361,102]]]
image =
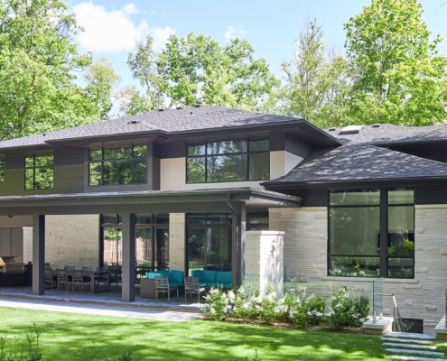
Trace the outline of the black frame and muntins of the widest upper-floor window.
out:
[[[256,141],[267,141],[268,147],[267,150],[254,151],[250,150],[250,142]],[[244,152],[222,152],[222,153],[210,153],[209,145],[211,143],[224,143],[224,142],[242,142],[245,144]],[[193,146],[203,146],[204,150],[202,154],[193,154],[190,155],[190,147]],[[266,154],[268,158],[268,170],[265,178],[256,177],[250,179],[250,164],[251,164],[251,155],[253,154]],[[209,180],[209,162],[211,158],[218,157],[232,157],[232,156],[246,156],[245,160],[245,172],[242,175],[240,180]],[[202,141],[202,142],[189,142],[186,143],[186,157],[185,157],[185,183],[186,184],[205,184],[205,183],[228,183],[228,182],[237,182],[237,181],[258,181],[258,180],[269,180],[270,179],[270,139],[268,137],[255,137],[255,138],[228,138],[228,139],[219,139],[219,140],[211,140],[211,141]],[[202,181],[191,181],[189,174],[189,162],[190,160],[202,160],[203,164],[203,180]]]

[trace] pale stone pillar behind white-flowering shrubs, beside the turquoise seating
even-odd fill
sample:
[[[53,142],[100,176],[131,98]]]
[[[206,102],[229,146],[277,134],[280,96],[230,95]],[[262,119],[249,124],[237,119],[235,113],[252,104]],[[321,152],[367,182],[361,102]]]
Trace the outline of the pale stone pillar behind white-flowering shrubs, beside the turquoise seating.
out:
[[[243,280],[248,293],[264,293],[269,285],[283,291],[284,232],[247,231],[246,274]]]

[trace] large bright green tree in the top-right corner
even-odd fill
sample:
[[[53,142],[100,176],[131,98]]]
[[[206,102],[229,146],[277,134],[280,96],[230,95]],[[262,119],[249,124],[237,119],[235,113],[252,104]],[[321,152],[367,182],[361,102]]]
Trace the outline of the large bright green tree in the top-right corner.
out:
[[[373,0],[345,24],[355,69],[349,116],[357,123],[432,125],[446,118],[445,56],[416,0]]]

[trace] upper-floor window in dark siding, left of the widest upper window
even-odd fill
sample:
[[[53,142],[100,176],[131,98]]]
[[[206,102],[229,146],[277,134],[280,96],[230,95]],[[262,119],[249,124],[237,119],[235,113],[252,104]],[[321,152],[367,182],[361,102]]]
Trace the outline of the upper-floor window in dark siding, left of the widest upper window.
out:
[[[146,153],[145,145],[90,149],[88,185],[116,186],[145,183]]]

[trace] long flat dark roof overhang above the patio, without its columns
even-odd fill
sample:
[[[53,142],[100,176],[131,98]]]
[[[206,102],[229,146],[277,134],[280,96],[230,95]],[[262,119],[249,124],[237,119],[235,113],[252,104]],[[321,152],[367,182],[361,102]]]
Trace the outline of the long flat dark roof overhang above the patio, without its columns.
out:
[[[303,199],[253,188],[219,190],[146,190],[0,197],[0,215],[69,215],[110,213],[188,213],[247,208],[302,207]]]

